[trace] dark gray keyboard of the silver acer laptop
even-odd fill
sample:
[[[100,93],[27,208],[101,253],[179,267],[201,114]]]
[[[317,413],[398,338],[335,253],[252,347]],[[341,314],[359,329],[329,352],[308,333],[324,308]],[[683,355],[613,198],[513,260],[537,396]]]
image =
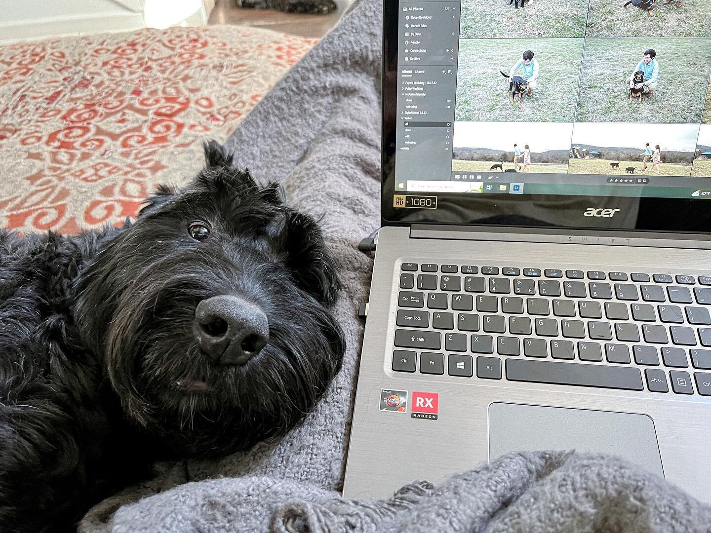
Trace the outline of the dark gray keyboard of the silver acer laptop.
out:
[[[402,263],[394,372],[711,396],[711,276]]]

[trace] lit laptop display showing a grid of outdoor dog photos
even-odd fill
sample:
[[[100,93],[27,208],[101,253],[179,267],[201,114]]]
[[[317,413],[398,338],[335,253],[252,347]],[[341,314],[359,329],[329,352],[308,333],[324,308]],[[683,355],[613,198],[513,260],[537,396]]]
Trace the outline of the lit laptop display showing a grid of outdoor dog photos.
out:
[[[710,2],[400,1],[398,16],[396,193],[711,198]]]

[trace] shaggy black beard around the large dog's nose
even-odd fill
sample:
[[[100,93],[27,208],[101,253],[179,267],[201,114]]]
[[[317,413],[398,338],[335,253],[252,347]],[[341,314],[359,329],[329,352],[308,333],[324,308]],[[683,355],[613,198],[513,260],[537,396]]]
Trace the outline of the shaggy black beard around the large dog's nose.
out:
[[[214,294],[196,276],[129,289],[107,343],[109,377],[129,417],[193,455],[250,448],[291,429],[338,372],[343,338],[311,297],[293,286],[272,293],[269,343],[244,365],[225,366],[193,333],[198,301]]]

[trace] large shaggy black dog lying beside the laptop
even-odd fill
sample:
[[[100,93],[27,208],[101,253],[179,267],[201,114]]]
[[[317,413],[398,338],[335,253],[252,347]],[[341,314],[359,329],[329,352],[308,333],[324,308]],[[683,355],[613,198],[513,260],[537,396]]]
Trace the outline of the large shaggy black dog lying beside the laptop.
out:
[[[282,436],[340,369],[319,226],[205,153],[133,224],[0,232],[0,531],[75,531],[151,461]]]

